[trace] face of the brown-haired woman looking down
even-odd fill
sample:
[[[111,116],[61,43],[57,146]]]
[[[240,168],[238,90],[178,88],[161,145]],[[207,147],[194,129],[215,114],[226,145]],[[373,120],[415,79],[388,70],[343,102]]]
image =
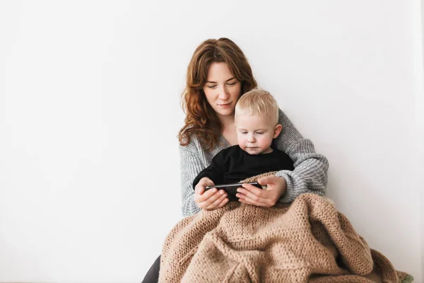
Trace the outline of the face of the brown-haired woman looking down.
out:
[[[206,100],[218,117],[234,115],[235,103],[240,98],[242,83],[235,79],[226,63],[211,64],[203,89]]]

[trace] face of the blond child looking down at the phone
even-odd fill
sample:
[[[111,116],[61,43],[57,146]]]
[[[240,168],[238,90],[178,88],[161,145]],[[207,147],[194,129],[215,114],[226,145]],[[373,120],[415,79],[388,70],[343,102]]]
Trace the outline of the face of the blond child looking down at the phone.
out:
[[[237,141],[248,154],[268,154],[271,143],[281,132],[281,125],[273,127],[266,115],[237,115]]]

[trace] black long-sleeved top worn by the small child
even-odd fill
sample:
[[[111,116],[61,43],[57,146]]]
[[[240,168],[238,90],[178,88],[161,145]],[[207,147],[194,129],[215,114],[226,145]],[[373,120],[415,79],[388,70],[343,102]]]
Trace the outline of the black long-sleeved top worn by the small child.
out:
[[[273,148],[269,154],[248,154],[240,146],[230,146],[212,158],[211,165],[194,178],[193,189],[201,178],[215,185],[239,183],[241,180],[270,171],[293,171],[293,161],[283,151]]]

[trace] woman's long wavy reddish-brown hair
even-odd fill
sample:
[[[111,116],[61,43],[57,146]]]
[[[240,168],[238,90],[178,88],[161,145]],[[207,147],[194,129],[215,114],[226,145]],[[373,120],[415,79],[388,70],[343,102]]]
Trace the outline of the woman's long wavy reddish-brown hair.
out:
[[[218,144],[222,127],[203,90],[209,66],[214,62],[228,64],[231,74],[242,84],[242,94],[257,87],[245,54],[232,40],[223,37],[201,43],[187,67],[187,83],[182,93],[182,108],[186,114],[185,125],[178,134],[182,146],[190,143],[192,134],[201,140],[207,151]]]

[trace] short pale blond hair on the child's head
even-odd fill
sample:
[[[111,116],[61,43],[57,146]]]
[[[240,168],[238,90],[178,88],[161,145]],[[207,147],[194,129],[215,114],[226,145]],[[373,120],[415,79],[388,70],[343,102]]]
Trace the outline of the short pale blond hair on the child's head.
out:
[[[240,115],[266,115],[273,125],[278,124],[278,103],[271,93],[261,88],[248,91],[235,105],[235,120]]]

